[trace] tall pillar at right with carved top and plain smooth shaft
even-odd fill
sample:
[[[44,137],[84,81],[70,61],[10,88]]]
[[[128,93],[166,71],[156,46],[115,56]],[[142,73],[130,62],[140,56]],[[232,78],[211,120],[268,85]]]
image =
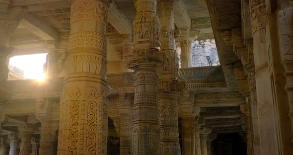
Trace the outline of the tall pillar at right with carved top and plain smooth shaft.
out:
[[[249,0],[250,19],[253,37],[253,55],[255,64],[255,84],[257,96],[257,113],[259,125],[259,140],[254,137],[254,143],[260,144],[262,155],[278,154],[278,139],[274,114],[273,88],[269,72],[268,50],[266,47],[267,8],[265,0]],[[268,32],[269,33],[269,32]],[[251,73],[252,74],[252,73]],[[252,108],[253,110],[253,108]],[[251,116],[254,117],[254,116]],[[252,118],[253,120],[254,118]],[[252,122],[252,124],[254,124]],[[254,125],[253,125],[254,128]],[[255,136],[255,135],[254,135]],[[260,154],[259,154],[260,155]]]

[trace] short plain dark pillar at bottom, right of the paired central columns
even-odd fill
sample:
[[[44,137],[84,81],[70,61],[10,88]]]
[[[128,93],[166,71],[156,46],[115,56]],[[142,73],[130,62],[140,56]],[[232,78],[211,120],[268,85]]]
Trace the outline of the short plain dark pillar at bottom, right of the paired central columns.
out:
[[[195,155],[195,117],[182,116],[182,155]]]

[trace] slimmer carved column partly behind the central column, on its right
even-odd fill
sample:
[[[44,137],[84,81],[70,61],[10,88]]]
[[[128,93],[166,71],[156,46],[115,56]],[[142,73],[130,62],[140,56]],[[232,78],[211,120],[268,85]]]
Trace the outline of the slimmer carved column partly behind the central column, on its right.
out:
[[[161,52],[168,55],[159,72],[161,155],[181,155],[178,133],[178,54],[175,51],[174,0],[159,1]]]

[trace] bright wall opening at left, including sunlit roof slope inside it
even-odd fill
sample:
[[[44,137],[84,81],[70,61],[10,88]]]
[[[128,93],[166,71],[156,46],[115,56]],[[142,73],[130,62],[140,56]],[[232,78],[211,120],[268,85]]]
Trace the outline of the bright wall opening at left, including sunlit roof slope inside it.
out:
[[[9,59],[8,80],[37,79],[44,80],[44,64],[47,53],[14,56]]]

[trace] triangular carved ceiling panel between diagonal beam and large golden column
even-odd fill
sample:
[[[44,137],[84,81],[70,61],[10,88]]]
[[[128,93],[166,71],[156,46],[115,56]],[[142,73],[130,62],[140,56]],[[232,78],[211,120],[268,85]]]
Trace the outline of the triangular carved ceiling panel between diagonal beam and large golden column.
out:
[[[32,12],[41,19],[52,24],[58,31],[69,31],[70,30],[70,12],[71,8],[58,8],[43,11]]]

